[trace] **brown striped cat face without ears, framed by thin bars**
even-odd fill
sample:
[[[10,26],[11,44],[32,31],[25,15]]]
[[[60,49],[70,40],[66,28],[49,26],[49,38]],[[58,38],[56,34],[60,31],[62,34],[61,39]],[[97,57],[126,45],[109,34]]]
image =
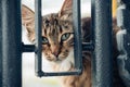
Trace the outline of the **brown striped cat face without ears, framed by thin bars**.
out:
[[[67,59],[74,49],[74,30],[70,21],[61,20],[57,14],[42,17],[42,53],[53,62]],[[73,50],[74,51],[74,50]]]

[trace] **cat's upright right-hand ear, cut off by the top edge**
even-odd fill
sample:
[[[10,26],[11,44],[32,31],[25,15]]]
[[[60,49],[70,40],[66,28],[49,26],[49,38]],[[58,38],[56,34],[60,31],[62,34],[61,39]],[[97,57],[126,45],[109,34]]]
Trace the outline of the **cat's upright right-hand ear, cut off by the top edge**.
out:
[[[73,17],[73,0],[65,0],[61,11],[58,12],[58,17],[62,20],[72,20]]]

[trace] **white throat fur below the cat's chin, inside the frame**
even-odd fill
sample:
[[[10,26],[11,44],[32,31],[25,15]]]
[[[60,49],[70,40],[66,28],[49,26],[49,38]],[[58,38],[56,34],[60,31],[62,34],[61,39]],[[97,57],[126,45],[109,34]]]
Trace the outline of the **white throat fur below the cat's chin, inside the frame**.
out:
[[[42,54],[42,59],[46,59],[52,66],[55,72],[68,72],[74,69],[74,50],[69,51],[68,57],[63,58],[53,58],[52,60],[48,60],[44,54]]]

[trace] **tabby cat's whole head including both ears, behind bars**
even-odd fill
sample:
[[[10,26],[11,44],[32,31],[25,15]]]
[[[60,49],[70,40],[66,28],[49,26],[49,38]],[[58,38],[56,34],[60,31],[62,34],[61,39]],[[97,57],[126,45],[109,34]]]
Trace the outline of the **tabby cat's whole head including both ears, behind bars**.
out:
[[[63,61],[74,51],[72,0],[66,1],[58,13],[42,16],[42,53],[49,61]],[[22,7],[22,21],[29,40],[35,41],[35,13],[25,5]]]

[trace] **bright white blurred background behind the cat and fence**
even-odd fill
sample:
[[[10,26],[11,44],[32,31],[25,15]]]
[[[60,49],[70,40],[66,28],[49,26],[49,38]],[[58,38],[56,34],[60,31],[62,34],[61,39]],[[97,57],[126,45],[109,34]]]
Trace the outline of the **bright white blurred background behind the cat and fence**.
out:
[[[64,0],[42,0],[42,15],[57,13]],[[90,16],[91,0],[81,0],[81,16]],[[32,11],[35,9],[34,0],[22,0],[22,4],[27,5]],[[23,42],[30,44],[27,39],[27,32],[23,26]],[[60,87],[56,77],[37,77],[35,75],[35,53],[23,53],[23,87]],[[49,71],[47,61],[43,62],[43,71]]]

